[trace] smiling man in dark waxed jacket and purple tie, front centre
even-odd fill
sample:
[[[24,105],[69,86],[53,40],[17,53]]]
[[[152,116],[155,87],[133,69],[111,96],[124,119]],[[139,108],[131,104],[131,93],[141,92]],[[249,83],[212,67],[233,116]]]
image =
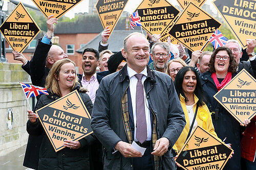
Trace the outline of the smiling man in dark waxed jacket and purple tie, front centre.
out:
[[[174,84],[147,66],[149,44],[142,34],[124,39],[122,55],[127,64],[102,79],[92,113],[104,169],[175,169],[171,148],[185,118]],[[146,148],[143,156],[131,147],[133,141]]]

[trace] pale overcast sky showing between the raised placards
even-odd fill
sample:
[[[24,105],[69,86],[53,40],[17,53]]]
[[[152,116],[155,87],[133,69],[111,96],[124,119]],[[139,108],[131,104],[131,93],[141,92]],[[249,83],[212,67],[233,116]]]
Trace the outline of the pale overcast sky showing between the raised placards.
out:
[[[32,2],[32,0],[18,0],[18,1],[35,6],[35,4]],[[103,1],[103,0],[100,0],[100,1]],[[142,0],[129,0],[128,3],[126,4],[124,11],[128,11],[128,12],[132,13],[139,6],[139,4],[141,2],[142,2]],[[172,4],[172,5],[178,5],[176,0],[168,0],[168,2],[170,2],[170,4]],[[211,7],[211,10],[215,10],[215,7],[214,7],[214,5],[212,5],[211,2],[212,2],[212,0],[207,0],[205,4],[209,4]],[[69,12],[67,12],[65,14],[65,16],[72,18],[72,17],[74,17],[75,13],[88,12],[88,4],[89,4],[89,0],[83,0],[77,6],[75,6]]]

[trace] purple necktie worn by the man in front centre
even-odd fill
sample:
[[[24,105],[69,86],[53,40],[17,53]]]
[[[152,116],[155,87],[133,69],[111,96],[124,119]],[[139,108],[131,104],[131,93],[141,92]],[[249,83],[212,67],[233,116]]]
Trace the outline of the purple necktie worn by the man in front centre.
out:
[[[144,93],[143,85],[141,79],[143,74],[136,74],[135,77],[138,79],[137,89],[136,89],[136,138],[140,143],[143,143],[146,140],[146,115],[145,115],[145,106],[144,106]]]

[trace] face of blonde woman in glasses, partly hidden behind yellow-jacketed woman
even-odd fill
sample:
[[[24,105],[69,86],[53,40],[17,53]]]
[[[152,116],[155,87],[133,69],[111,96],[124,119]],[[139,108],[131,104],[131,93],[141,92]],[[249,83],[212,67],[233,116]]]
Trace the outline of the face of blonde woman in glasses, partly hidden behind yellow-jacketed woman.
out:
[[[176,75],[179,72],[179,70],[183,67],[187,66],[184,60],[177,58],[170,60],[167,63],[167,69],[166,74],[169,75],[173,81],[175,81]]]

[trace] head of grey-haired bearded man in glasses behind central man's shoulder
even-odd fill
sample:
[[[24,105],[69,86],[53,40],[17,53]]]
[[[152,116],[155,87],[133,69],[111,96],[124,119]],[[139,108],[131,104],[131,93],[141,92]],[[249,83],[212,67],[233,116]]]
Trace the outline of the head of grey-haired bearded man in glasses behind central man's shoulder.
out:
[[[165,72],[167,61],[170,59],[170,47],[167,42],[157,42],[152,46],[151,59],[154,67],[151,69]]]

